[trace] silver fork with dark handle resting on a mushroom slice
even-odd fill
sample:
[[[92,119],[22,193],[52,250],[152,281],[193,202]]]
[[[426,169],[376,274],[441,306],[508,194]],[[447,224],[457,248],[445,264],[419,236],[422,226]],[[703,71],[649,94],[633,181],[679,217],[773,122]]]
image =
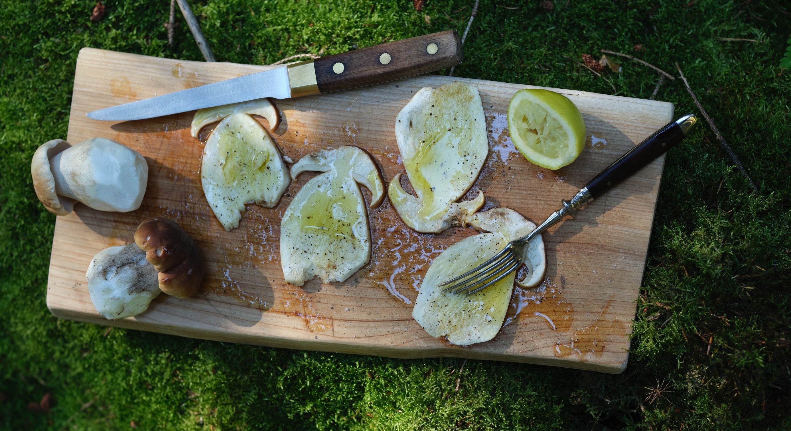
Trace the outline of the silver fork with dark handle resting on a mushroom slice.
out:
[[[552,225],[557,224],[564,217],[570,216],[573,218],[577,210],[581,210],[593,199],[604,195],[612,187],[634,175],[634,173],[644,168],[645,165],[651,163],[657,157],[660,157],[668,149],[676,146],[683,138],[687,138],[697,122],[698,117],[694,114],[689,114],[666,124],[660,130],[645,138],[645,141],[640,142],[638,146],[630,149],[629,152],[607,166],[604,171],[585,184],[585,187],[577,191],[577,195],[574,195],[570,201],[562,199],[562,208],[552,213],[547,217],[547,220],[544,220],[527,236],[509,242],[498,254],[478,267],[441,283],[439,286],[450,285],[450,287],[442,291],[448,292],[452,290],[452,293],[467,292],[467,295],[471,295],[499,282],[522,264],[524,261],[524,248],[530,240],[549,229]]]

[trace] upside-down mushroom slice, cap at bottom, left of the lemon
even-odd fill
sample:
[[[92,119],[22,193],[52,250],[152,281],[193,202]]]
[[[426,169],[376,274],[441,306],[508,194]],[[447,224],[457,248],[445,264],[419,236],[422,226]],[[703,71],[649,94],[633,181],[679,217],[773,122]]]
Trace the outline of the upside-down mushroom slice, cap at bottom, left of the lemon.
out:
[[[395,117],[395,140],[417,196],[403,190],[400,173],[390,182],[388,195],[409,227],[440,233],[464,225],[483,206],[483,191],[456,202],[478,178],[489,153],[483,105],[474,86],[455,81],[420,89]]]

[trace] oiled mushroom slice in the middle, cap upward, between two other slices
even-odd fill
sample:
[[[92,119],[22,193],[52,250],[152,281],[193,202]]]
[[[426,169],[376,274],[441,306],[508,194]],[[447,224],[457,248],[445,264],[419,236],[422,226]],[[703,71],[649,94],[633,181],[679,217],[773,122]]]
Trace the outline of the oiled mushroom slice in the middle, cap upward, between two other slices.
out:
[[[358,183],[371,191],[371,208],[384,198],[377,165],[354,146],[310,153],[291,167],[324,172],[300,189],[286,209],[280,228],[280,259],[286,282],[303,285],[318,275],[343,282],[371,258],[368,213]]]

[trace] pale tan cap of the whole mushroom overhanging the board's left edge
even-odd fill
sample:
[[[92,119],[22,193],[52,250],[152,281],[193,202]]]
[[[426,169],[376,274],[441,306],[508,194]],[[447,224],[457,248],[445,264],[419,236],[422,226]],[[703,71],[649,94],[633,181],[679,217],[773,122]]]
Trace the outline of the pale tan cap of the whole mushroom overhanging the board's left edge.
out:
[[[52,175],[49,160],[70,147],[71,144],[62,139],[44,142],[36,149],[36,153],[33,153],[30,163],[30,174],[33,178],[36,196],[47,211],[56,215],[69,214],[74,207],[74,200],[59,196],[55,192],[55,176]]]

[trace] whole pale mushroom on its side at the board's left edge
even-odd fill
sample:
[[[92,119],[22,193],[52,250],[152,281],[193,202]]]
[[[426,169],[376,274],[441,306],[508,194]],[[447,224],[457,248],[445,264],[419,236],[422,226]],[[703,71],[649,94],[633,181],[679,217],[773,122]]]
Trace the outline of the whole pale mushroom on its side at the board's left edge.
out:
[[[33,187],[51,213],[69,214],[74,202],[94,210],[137,210],[146,194],[148,164],[140,153],[105,138],[71,146],[45,142],[31,163]]]

